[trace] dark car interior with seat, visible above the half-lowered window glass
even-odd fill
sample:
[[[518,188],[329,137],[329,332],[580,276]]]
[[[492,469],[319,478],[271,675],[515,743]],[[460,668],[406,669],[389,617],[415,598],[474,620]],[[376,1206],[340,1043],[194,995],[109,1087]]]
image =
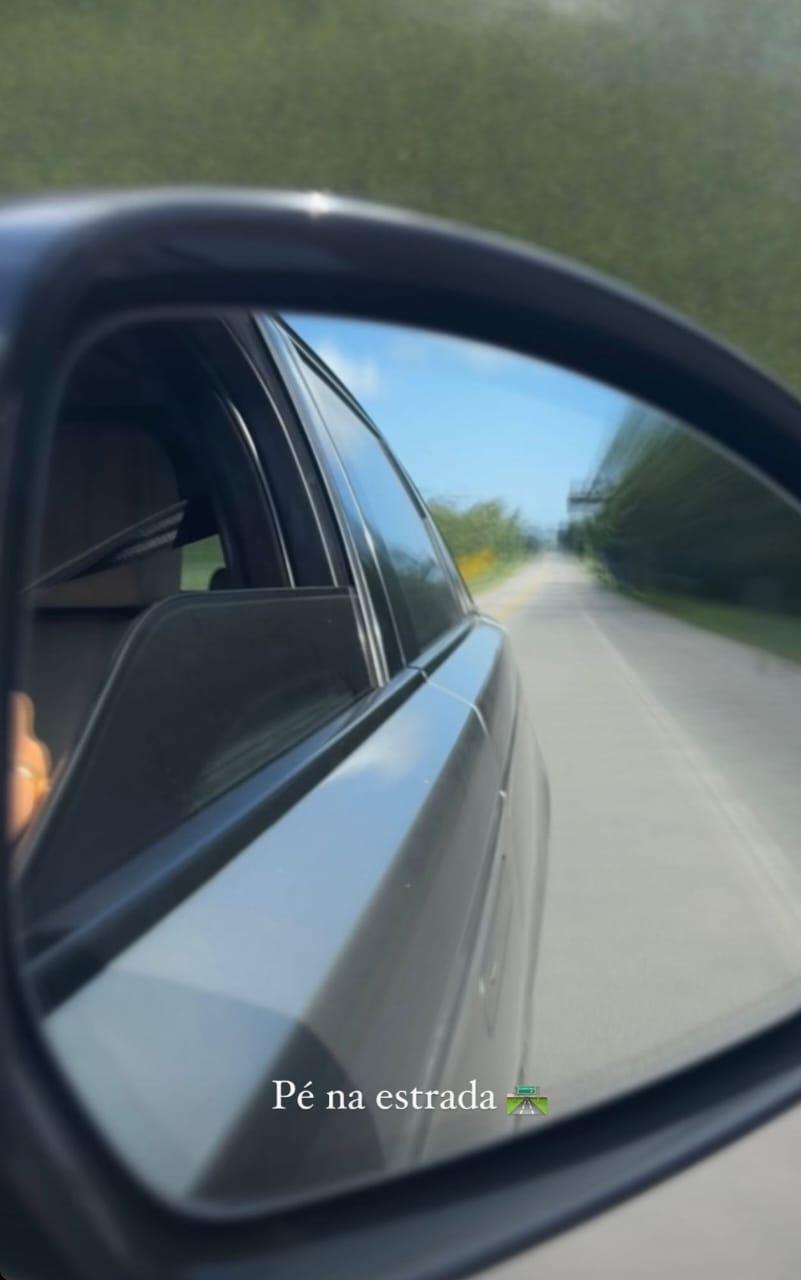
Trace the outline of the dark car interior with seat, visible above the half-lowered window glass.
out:
[[[215,538],[221,572],[206,585],[237,582],[209,480],[154,375],[141,342],[106,340],[75,369],[55,430],[29,588],[29,694],[54,767],[134,620],[182,589],[188,548]]]

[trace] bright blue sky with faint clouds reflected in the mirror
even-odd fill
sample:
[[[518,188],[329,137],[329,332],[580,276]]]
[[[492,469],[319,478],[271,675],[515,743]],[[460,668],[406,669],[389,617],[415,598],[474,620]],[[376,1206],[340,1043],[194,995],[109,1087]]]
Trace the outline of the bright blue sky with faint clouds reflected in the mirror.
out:
[[[623,396],[494,347],[288,315],[375,420],[425,498],[502,498],[540,529],[591,475]]]

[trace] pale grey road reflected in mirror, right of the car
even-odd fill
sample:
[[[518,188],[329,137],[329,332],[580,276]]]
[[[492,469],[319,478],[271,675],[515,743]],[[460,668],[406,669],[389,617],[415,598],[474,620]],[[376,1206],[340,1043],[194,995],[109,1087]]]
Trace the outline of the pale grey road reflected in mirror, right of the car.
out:
[[[557,553],[480,605],[551,791],[531,1083],[559,1115],[801,1004],[801,667]]]

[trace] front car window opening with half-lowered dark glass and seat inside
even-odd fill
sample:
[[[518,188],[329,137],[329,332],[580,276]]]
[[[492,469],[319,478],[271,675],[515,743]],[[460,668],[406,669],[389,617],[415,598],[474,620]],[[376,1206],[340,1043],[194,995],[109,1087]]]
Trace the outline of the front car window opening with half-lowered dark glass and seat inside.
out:
[[[124,360],[111,361],[120,351],[109,339],[68,387],[26,590],[19,692],[47,753],[50,791],[22,841],[38,914],[369,687],[351,590],[293,589],[257,572],[252,531],[266,548],[269,480],[253,472],[219,397],[198,397],[202,366],[184,406],[180,378],[128,339],[116,344]],[[110,362],[111,385],[106,378],[104,396],[87,397]]]

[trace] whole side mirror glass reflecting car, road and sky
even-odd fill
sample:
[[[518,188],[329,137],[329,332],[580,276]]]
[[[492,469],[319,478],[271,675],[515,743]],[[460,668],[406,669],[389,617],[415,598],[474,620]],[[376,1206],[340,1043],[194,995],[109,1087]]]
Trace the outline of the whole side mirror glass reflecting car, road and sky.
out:
[[[801,996],[801,525],[692,424],[441,334],[120,326],[12,694],[82,1106],[241,1210],[509,1140]]]

